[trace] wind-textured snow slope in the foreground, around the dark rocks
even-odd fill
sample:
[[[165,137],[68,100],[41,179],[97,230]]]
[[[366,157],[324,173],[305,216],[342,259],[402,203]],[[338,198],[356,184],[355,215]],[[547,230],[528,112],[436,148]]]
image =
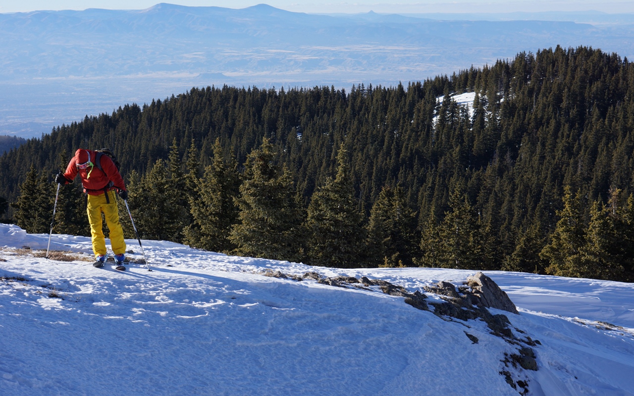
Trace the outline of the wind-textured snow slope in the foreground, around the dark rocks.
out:
[[[119,272],[92,267],[89,238],[53,235],[72,262],[38,258],[47,242],[0,224],[0,395],[517,395],[503,370],[534,395],[634,395],[633,284],[486,272],[520,314],[491,312],[541,343],[530,371],[505,366],[517,345],[482,321],[262,274],[367,276],[413,292],[475,271],[309,267],[143,241],[153,271]]]

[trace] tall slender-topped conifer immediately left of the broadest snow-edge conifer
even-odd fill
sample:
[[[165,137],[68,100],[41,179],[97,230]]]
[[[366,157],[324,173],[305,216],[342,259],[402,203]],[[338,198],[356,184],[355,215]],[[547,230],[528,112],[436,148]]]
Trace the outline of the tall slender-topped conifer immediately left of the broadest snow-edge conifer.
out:
[[[235,159],[227,163],[219,139],[214,144],[214,160],[205,168],[202,179],[195,184],[190,200],[193,222],[186,227],[186,243],[191,246],[229,253],[236,246],[229,240],[231,227],[238,221],[240,176]]]

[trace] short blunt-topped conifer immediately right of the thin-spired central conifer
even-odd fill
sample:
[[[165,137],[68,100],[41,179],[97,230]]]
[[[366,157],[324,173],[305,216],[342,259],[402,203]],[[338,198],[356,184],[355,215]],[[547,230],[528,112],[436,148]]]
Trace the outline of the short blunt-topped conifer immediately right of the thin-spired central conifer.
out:
[[[370,211],[368,264],[411,267],[417,252],[416,214],[407,206],[403,189],[384,187]]]

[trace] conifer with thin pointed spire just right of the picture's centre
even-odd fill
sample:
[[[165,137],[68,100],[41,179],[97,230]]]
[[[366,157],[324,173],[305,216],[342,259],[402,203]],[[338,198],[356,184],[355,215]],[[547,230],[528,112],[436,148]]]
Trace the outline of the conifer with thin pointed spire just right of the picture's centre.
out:
[[[308,260],[314,265],[359,267],[364,229],[343,146],[337,154],[337,176],[313,194],[308,206]]]

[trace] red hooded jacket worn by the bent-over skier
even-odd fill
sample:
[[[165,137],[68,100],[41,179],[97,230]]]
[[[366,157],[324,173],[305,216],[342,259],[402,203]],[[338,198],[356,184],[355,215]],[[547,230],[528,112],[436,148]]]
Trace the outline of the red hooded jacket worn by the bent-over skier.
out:
[[[81,184],[84,186],[84,193],[89,195],[101,195],[104,189],[126,189],[126,184],[119,174],[119,170],[114,162],[107,155],[100,156],[101,169],[94,163],[97,153],[93,150],[80,148],[75,151],[75,156],[68,163],[64,177],[73,181],[79,173]],[[79,169],[79,164],[91,162],[86,169]]]

